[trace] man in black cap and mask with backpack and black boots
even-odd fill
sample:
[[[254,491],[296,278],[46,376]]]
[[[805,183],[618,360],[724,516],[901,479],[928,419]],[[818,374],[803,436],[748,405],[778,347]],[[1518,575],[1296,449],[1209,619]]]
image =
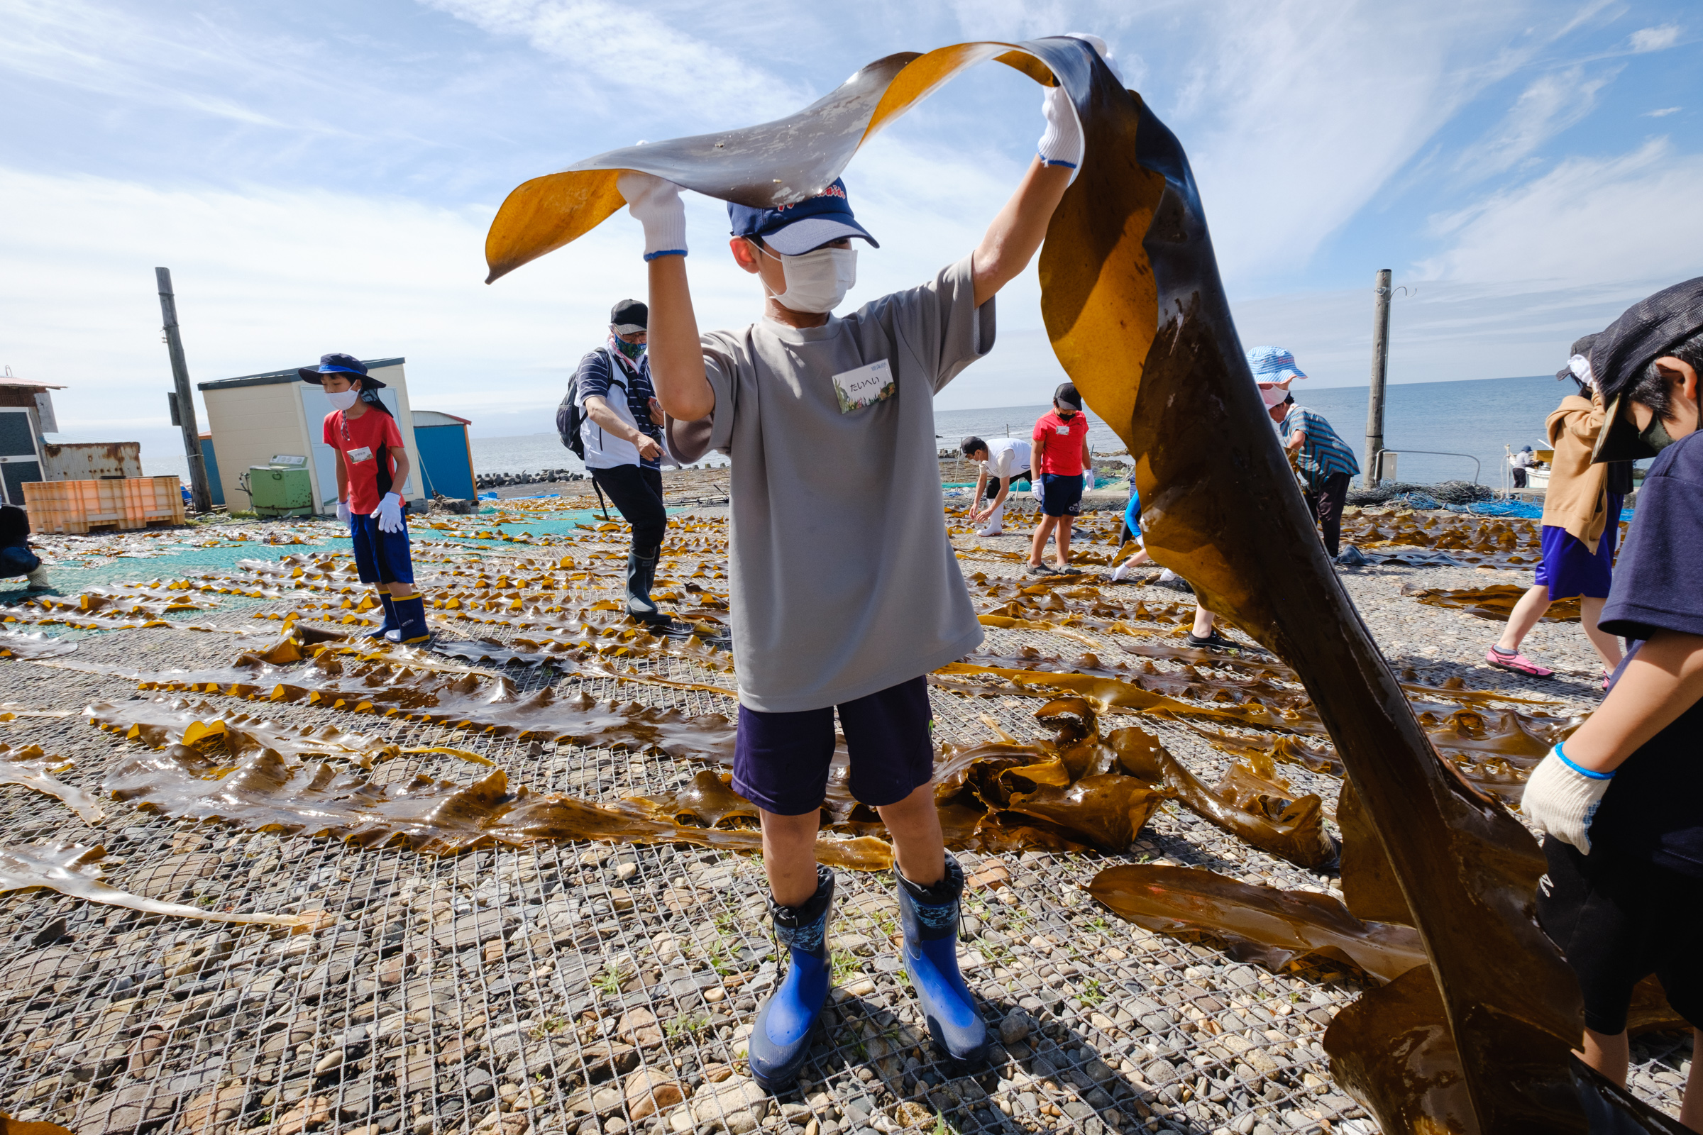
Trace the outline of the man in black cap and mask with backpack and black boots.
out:
[[[645,623],[669,623],[651,601],[656,562],[668,531],[662,507],[662,410],[651,388],[645,337],[651,311],[637,299],[622,299],[610,311],[610,334],[586,352],[574,374],[584,417],[579,439],[586,470],[598,492],[634,529],[627,553],[627,614]]]

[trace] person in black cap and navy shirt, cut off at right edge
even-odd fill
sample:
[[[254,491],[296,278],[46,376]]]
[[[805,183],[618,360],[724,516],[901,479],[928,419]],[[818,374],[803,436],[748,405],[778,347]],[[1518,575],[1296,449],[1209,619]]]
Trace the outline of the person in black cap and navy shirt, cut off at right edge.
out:
[[[1654,456],[1601,630],[1633,643],[1608,698],[1526,783],[1545,832],[1538,921],[1584,994],[1585,1064],[1626,1082],[1626,1009],[1650,973],[1703,1052],[1703,277],[1633,305],[1589,347],[1599,463]],[[1691,1062],[1679,1121],[1703,1132]]]

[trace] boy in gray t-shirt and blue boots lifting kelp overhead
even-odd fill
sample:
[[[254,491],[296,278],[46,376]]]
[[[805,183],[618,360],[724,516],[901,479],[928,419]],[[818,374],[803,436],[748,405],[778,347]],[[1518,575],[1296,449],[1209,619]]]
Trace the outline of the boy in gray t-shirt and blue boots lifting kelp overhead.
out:
[[[928,1028],[954,1058],[986,1048],[957,970],[964,873],[945,854],[932,788],[925,676],[981,642],[940,510],[933,396],[993,347],[993,296],[1041,247],[1081,160],[1061,87],[1044,112],[1039,157],[981,245],[843,318],[833,310],[857,279],[852,240],[877,247],[843,182],[790,206],[727,206],[734,262],[761,281],[763,311],[700,335],[679,187],[618,180],[644,223],[651,374],[673,449],[732,458],[734,788],[761,810],[770,910],[790,955],[749,1043],[751,1074],[771,1091],[804,1065],[829,987],[834,876],[816,863],[816,836],[836,710],[852,791],[892,836],[904,970]]]

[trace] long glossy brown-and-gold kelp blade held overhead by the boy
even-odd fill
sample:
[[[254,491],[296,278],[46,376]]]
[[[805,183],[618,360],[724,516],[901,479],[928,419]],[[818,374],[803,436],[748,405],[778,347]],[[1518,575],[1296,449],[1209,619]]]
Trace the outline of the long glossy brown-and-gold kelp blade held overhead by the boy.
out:
[[[618,150],[571,174],[635,168],[744,204],[797,201],[984,46],[889,56],[782,123]],[[1529,880],[1504,870],[1531,854],[1531,836],[1437,761],[1339,585],[1255,393],[1187,155],[1085,43],[1001,48],[1039,60],[1083,126],[1080,174],[1041,252],[1041,311],[1071,381],[1136,456],[1148,548],[1306,686],[1413,912],[1480,1128],[1585,1130],[1567,1065],[1577,984],[1536,926]],[[492,279],[616,208],[589,189],[569,214],[540,201],[504,204]]]

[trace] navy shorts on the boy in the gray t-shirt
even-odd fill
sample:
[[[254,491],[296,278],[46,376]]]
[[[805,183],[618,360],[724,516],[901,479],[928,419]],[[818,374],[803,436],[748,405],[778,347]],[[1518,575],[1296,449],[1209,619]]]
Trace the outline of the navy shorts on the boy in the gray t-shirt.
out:
[[[913,677],[838,706],[852,757],[852,795],[872,808],[899,803],[935,776],[928,681]],[[823,807],[834,759],[834,706],[761,713],[739,706],[734,791],[775,815]]]

